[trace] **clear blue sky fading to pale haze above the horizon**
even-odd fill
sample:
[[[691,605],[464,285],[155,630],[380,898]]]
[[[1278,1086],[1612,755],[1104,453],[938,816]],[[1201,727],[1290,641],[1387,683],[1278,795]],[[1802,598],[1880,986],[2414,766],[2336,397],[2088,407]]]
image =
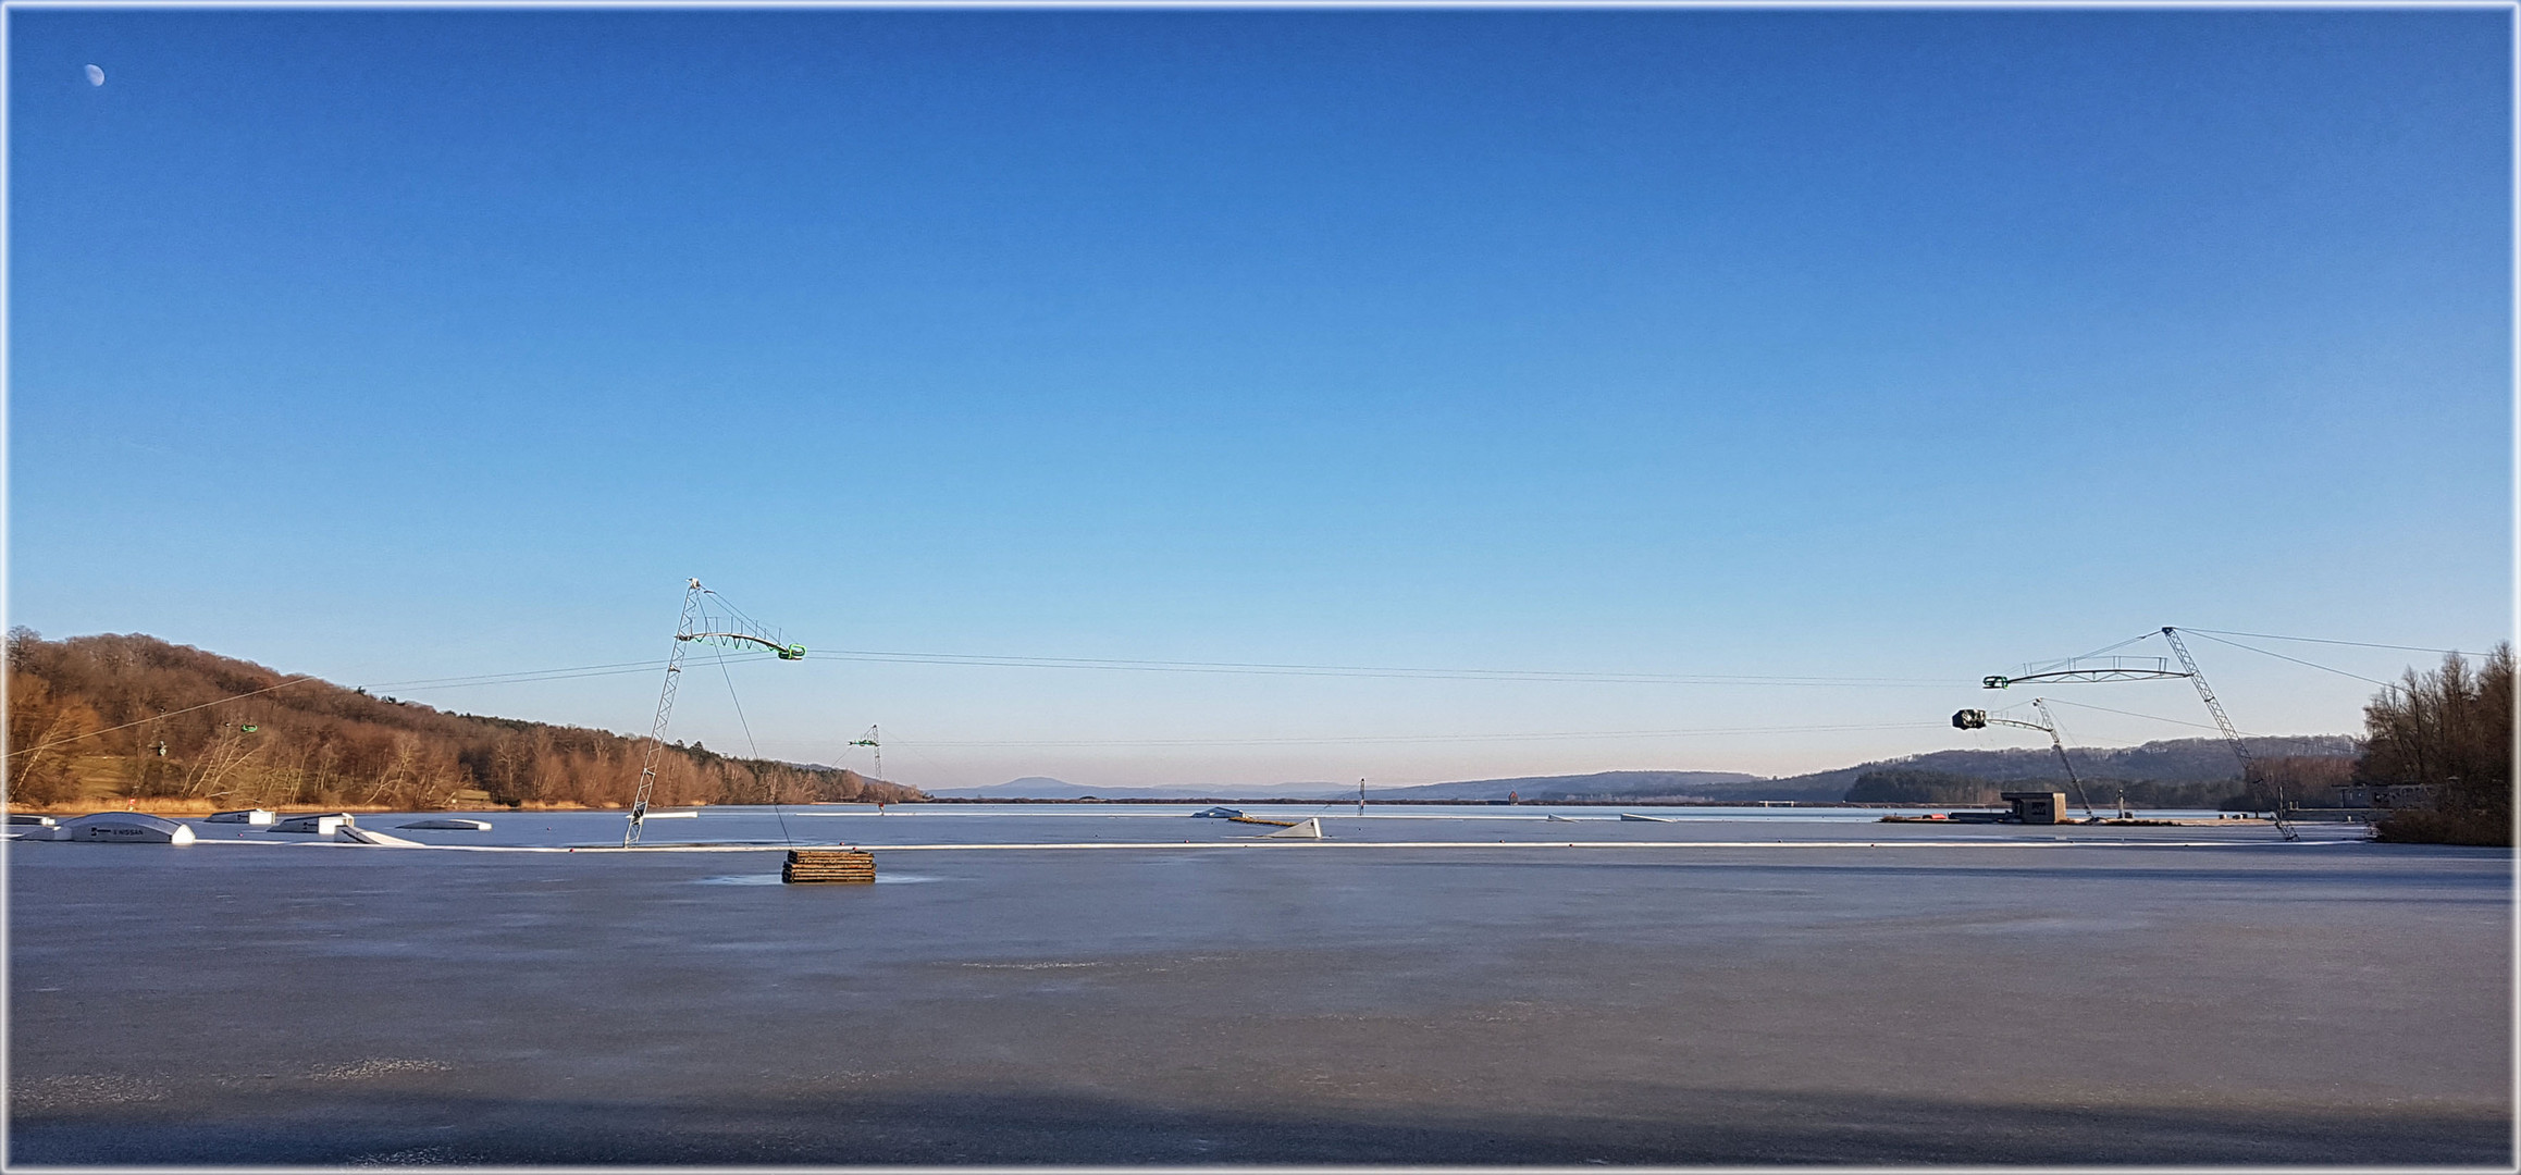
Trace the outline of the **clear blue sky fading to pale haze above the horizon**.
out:
[[[817,651],[1908,681],[734,666],[930,787],[1782,774],[2166,623],[2511,635],[2498,10],[8,20],[45,635],[592,666],[698,575]],[[2251,731],[2372,691],[2198,656]],[[1835,729],[1437,739],[1765,726]]]

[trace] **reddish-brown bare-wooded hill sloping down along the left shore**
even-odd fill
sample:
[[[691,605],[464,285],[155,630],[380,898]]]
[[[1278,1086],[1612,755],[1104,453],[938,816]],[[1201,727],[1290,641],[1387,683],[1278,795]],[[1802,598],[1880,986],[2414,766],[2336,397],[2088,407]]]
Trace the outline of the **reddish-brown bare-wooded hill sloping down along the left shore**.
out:
[[[645,739],[446,714],[151,635],[8,635],[8,792],[18,804],[628,804]],[[272,688],[280,686],[280,688]],[[262,693],[255,693],[262,691]],[[239,693],[252,693],[242,696]],[[232,701],[222,701],[232,698]],[[668,746],[655,804],[920,799],[915,787]]]

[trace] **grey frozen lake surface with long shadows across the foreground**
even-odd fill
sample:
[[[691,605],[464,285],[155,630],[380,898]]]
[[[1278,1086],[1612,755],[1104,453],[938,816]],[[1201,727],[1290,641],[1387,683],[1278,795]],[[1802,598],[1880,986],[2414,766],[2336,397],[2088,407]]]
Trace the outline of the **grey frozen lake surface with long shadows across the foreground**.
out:
[[[10,1160],[2511,1162],[2501,850],[1190,809],[10,845]]]

